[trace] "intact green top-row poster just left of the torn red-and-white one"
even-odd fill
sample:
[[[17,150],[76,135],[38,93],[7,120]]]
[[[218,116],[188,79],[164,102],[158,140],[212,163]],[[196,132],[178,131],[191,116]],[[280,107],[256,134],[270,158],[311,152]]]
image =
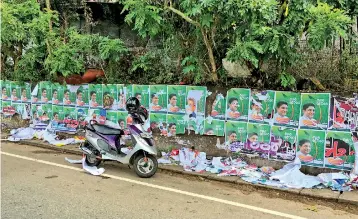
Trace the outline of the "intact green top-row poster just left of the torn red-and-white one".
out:
[[[328,128],[331,94],[303,93],[301,94],[300,128],[324,129]]]

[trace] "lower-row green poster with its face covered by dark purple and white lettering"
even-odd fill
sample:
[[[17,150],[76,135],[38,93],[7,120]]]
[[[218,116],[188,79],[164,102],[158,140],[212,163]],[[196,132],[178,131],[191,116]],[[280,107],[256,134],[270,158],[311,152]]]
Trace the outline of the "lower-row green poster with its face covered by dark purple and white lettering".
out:
[[[284,126],[271,126],[270,159],[293,161],[296,158],[297,129]]]

